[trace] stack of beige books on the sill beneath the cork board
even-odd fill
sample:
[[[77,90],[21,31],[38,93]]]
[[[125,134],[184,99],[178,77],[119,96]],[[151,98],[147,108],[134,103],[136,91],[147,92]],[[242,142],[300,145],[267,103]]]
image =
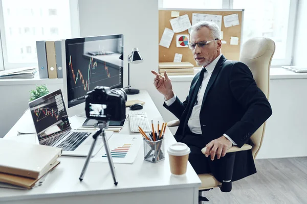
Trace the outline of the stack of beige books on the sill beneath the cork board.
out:
[[[194,65],[189,62],[159,62],[159,73],[168,75],[194,75]]]

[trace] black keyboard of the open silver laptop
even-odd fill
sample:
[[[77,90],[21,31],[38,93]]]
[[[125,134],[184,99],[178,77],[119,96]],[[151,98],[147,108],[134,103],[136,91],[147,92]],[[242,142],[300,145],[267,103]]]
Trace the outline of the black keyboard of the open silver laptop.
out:
[[[64,151],[74,151],[91,133],[73,132],[68,138],[62,141],[57,147]]]

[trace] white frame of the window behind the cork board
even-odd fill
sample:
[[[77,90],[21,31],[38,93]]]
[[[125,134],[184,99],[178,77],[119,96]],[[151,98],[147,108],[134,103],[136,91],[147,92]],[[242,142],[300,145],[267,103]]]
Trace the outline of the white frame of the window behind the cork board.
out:
[[[0,0],[1,1],[1,0]],[[290,8],[289,8],[289,18],[288,18],[288,33],[287,33],[287,40],[286,40],[286,54],[285,58],[283,59],[273,59],[271,63],[271,67],[280,67],[280,66],[286,66],[286,65],[292,65],[292,59],[293,59],[293,53],[294,53],[294,36],[295,36],[295,25],[296,25],[296,16],[297,16],[297,10],[298,10],[298,0],[290,0]],[[163,7],[163,0],[159,0],[159,10],[165,10],[168,8]],[[171,8],[175,9],[175,8]],[[170,9],[170,10],[171,10]],[[223,0],[222,3],[222,9],[233,9],[233,0]],[[182,10],[182,9],[181,9]],[[187,9],[191,10],[191,9]],[[198,10],[198,9],[195,9]],[[244,22],[244,15],[242,16],[242,21]],[[241,39],[244,32],[244,25],[242,25],[242,33],[241,33]],[[241,47],[242,47],[241,43]]]

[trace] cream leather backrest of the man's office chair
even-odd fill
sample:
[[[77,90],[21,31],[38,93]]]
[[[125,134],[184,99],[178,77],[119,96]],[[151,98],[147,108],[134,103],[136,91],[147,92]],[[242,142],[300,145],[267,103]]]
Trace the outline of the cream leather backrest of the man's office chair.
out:
[[[270,38],[254,37],[247,40],[241,50],[240,62],[252,71],[257,86],[269,99],[270,67],[275,52],[275,42]],[[253,158],[256,159],[264,139],[266,122],[251,136]]]

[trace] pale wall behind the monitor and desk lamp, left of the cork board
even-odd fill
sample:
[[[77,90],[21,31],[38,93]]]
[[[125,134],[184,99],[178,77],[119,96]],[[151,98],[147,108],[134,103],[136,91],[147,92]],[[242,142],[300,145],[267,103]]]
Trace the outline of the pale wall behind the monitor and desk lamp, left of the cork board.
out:
[[[128,84],[127,56],[139,48],[144,62],[130,64],[131,88],[147,90],[165,118],[163,96],[153,86],[155,76],[150,72],[158,72],[158,17],[156,0],[79,0],[81,36],[124,35],[124,86]]]

